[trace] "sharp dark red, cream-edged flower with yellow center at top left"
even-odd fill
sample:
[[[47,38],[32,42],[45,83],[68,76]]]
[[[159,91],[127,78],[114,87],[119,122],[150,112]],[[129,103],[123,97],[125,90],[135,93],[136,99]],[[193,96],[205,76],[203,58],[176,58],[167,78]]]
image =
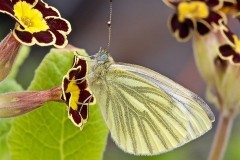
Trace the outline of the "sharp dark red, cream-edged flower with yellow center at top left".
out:
[[[68,43],[70,23],[42,0],[0,0],[0,12],[17,21],[13,35],[23,44],[62,48]]]

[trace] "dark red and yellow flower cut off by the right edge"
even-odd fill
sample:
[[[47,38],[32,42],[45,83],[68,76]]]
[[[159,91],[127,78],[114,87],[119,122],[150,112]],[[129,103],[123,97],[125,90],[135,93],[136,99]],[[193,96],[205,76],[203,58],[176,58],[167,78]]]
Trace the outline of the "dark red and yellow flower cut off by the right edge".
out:
[[[240,64],[240,40],[238,36],[232,33],[228,27],[221,31],[226,39],[226,43],[219,47],[221,58],[230,60],[233,64]]]

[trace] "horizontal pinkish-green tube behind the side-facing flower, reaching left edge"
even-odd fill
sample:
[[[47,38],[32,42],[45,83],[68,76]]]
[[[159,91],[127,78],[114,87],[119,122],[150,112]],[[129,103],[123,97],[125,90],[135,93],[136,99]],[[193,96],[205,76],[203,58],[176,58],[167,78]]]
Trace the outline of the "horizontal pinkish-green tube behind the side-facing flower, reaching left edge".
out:
[[[25,91],[0,94],[0,118],[22,115],[49,101],[61,102],[61,87],[44,91]]]

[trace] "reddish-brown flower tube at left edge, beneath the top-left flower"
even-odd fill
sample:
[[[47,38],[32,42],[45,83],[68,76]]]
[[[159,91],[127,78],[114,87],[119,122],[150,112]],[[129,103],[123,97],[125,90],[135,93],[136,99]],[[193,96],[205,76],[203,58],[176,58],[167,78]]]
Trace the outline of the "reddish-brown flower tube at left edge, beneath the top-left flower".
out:
[[[0,43],[0,81],[4,80],[11,71],[21,43],[10,32]]]

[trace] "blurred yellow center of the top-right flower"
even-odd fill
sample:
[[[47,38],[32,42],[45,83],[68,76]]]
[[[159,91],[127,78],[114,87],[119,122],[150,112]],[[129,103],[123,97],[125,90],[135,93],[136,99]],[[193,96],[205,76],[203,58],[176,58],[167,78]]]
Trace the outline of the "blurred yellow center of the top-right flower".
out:
[[[178,5],[178,20],[184,22],[186,18],[207,18],[209,9],[206,3],[201,1],[181,2]]]

